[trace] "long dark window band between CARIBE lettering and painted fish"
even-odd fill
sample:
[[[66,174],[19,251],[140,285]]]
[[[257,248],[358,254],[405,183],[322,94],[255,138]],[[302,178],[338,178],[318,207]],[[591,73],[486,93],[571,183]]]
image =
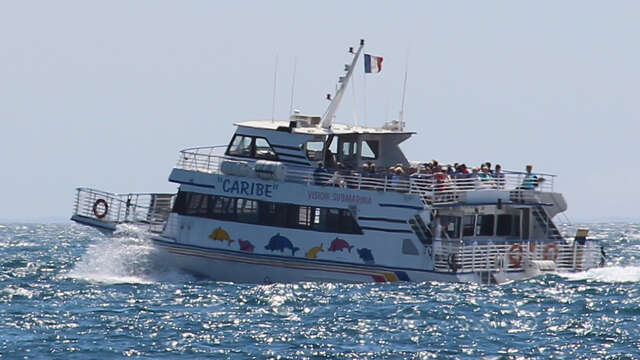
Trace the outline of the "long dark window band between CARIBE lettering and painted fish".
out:
[[[347,209],[303,206],[180,191],[173,206],[180,215],[323,232],[362,234]]]

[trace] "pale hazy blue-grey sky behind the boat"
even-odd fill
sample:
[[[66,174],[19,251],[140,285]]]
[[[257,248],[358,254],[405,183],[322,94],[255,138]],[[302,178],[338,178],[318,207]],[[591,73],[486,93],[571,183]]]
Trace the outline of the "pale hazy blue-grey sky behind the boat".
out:
[[[640,218],[640,2],[389,4],[1,2],[0,219],[69,217],[78,186],[174,191],[180,149],[271,117],[276,56],[276,117],[295,58],[295,107],[322,114],[360,38],[384,57],[358,69],[361,123],[396,117],[408,59],[408,158],[532,163],[572,220]]]

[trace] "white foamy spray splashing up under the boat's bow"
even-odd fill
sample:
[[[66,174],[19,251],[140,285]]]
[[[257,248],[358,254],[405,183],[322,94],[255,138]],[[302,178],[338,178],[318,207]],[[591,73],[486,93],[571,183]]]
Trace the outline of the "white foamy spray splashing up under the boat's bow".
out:
[[[113,237],[90,245],[68,276],[107,284],[187,282],[193,277],[162,261],[160,253],[140,229],[121,225]]]

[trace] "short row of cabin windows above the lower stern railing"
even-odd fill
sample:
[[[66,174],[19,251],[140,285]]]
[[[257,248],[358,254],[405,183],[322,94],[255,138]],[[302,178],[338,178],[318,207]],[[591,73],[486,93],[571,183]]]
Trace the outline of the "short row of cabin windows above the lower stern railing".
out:
[[[459,216],[441,216],[440,224],[442,224],[442,230],[447,233],[450,239],[460,238],[461,220],[463,237],[520,236],[520,216],[518,215],[465,215],[462,218]]]

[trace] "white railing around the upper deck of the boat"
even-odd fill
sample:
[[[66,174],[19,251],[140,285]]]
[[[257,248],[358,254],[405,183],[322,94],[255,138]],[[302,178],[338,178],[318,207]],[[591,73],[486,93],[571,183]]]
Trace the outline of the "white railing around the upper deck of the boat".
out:
[[[239,161],[238,158],[224,155],[226,146],[211,146],[185,149],[180,151],[176,168],[205,173],[223,173],[222,164],[225,161]],[[256,159],[240,160],[252,168]],[[321,186],[336,186],[349,189],[393,191],[401,193],[419,194],[425,204],[445,205],[464,201],[467,194],[472,192],[490,191],[510,192],[510,199],[520,202],[535,201],[534,192],[552,192],[555,175],[536,173],[537,184],[531,186],[525,182],[523,172],[506,171],[504,177],[486,178],[453,176],[438,177],[433,175],[403,176],[386,172],[367,175],[352,170],[328,170],[318,172],[305,166],[286,164],[286,175],[283,181],[315,184]],[[542,180],[541,180],[542,179]],[[533,191],[532,191],[533,190]]]

